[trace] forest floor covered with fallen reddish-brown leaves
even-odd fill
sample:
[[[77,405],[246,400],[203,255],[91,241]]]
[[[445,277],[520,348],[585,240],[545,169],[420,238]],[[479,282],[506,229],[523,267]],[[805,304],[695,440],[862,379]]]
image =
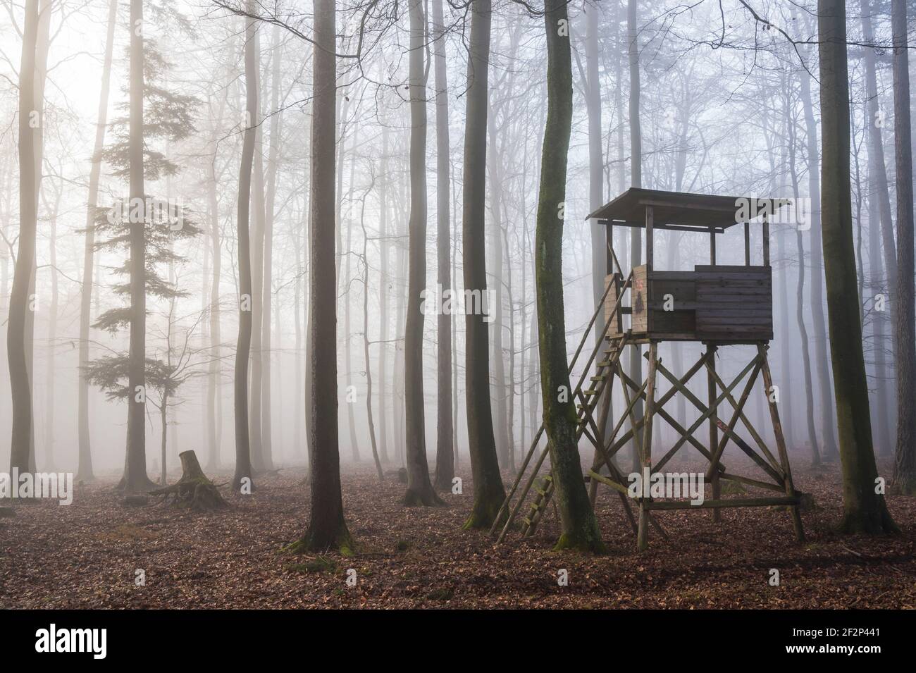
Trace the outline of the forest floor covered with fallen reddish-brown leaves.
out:
[[[802,514],[801,545],[777,508],[725,510],[721,524],[708,510],[673,511],[659,513],[671,540],[652,531],[638,554],[619,500],[602,487],[606,556],[552,551],[553,515],[535,536],[510,534],[499,547],[461,530],[469,478],[463,495],[443,495],[446,506],[407,508],[397,478],[378,483],[365,464],[344,472],[358,545],[350,558],[281,551],[309,512],[301,468],[256,478],[255,494],[228,495],[231,506],[212,514],[121,505],[114,481],[101,481],[77,486],[72,505],[16,505],[16,516],[0,518],[0,608],[916,607],[916,498],[888,498],[899,537],[838,536],[838,466],[795,462],[797,487],[816,503]]]

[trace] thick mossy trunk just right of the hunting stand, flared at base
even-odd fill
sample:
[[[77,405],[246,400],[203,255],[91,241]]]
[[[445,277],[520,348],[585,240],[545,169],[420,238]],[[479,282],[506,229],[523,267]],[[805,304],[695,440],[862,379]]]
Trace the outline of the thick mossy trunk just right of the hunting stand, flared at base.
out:
[[[852,198],[849,186],[849,79],[845,6],[818,0],[823,171],[821,211],[824,275],[834,398],[843,464],[842,527],[847,532],[894,530],[884,496],[876,494],[878,468],[871,418],[862,325],[859,320]]]

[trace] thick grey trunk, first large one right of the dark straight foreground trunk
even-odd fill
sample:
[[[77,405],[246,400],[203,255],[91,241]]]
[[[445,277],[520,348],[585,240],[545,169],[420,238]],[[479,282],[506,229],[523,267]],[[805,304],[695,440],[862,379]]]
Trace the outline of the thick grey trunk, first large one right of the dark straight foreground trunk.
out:
[[[410,220],[407,323],[404,327],[404,398],[407,414],[407,493],[405,505],[437,505],[426,461],[423,404],[423,311],[426,288],[426,77],[423,44],[426,17],[422,0],[410,0]],[[438,298],[437,298],[438,300]]]

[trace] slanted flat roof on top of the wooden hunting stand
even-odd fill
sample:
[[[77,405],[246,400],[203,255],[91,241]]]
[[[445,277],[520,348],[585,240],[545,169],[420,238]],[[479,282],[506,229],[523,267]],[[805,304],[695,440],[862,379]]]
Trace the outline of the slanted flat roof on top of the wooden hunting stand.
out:
[[[655,228],[722,233],[734,224],[757,219],[763,212],[775,214],[789,203],[787,199],[690,194],[684,191],[631,187],[585,219],[605,220],[627,227],[645,227],[646,206],[652,206],[652,226]],[[749,212],[750,217],[740,219],[739,214],[745,212]]]

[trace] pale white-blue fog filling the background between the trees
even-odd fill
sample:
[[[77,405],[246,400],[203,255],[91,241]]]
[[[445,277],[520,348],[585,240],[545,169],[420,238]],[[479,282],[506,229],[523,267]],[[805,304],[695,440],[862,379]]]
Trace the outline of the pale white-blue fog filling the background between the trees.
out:
[[[27,339],[34,460],[43,470],[78,472],[80,467],[81,342],[87,339],[81,326],[85,330],[88,324],[88,357],[82,364],[93,376],[82,413],[88,421],[92,470],[96,477],[119,477],[125,467],[125,396],[132,394],[121,375],[128,352],[130,288],[127,234],[118,228],[129,219],[125,200],[133,193],[128,184],[130,3],[40,0],[38,5],[35,88],[40,104],[33,120],[40,129],[35,147],[38,227]],[[158,212],[157,223],[147,224],[153,232],[147,268],[157,281],[147,285],[146,357],[169,373],[163,379],[167,384],[147,382],[150,479],[158,481],[163,445],[169,473],[180,470],[177,456],[183,450],[195,450],[209,470],[234,467],[234,358],[239,296],[245,294],[239,288],[238,177],[245,131],[251,128],[254,327],[248,420],[254,470],[308,461],[307,391],[315,347],[308,324],[309,186],[311,171],[328,170],[332,173],[324,182],[333,185],[336,221],[341,461],[344,471],[356,462],[372,465],[371,421],[383,467],[398,468],[405,461],[405,354],[411,354],[405,349],[409,245],[414,244],[409,236],[410,149],[411,133],[418,130],[411,121],[408,4],[338,3],[336,163],[330,168],[311,157],[311,3],[143,5],[143,193]],[[817,48],[805,42],[816,33],[817,17],[803,5],[756,5],[775,27],[731,3],[721,10],[714,2],[644,0],[638,15],[629,19],[627,3],[568,5],[573,119],[566,200],[558,215],[563,222],[567,352],[572,358],[604,290],[604,229],[586,222],[589,212],[634,185],[790,199],[794,210],[780,211],[770,224],[775,394],[793,461],[833,461],[837,435],[820,241]],[[24,15],[21,3],[7,3],[6,9],[0,16],[5,119],[0,128],[0,399],[5,400],[0,437],[8,438],[13,414],[6,316],[20,222],[16,129]],[[534,255],[547,114],[543,17],[532,16],[521,3],[493,4],[485,128],[469,129],[470,10],[442,0],[424,3],[423,9],[428,16],[420,40],[418,95],[425,99],[426,116],[420,177],[428,188],[421,204],[426,223],[420,241],[426,266],[420,282],[427,288],[421,339],[425,447],[433,469],[437,414],[442,413],[437,345],[444,324],[451,332],[454,461],[459,472],[468,465],[465,320],[461,307],[446,306],[453,320],[439,321],[436,297],[442,278],[446,288],[463,297],[465,255],[472,249],[463,241],[465,134],[485,134],[485,222],[476,227],[482,239],[476,249],[485,254],[482,301],[496,452],[501,466],[511,469],[541,422]],[[267,20],[248,22],[245,11]],[[846,23],[850,42],[889,44],[888,3],[852,3]],[[632,35],[634,28],[632,42],[627,30]],[[788,38],[798,41],[792,44]],[[257,94],[253,119],[246,114],[249,41]],[[630,49],[633,44],[637,49]],[[889,132],[893,78],[888,49],[850,47],[849,57],[857,284],[875,449],[884,456],[893,450],[896,415],[888,310],[892,288],[883,250],[888,235],[893,243],[893,231],[882,222],[895,198],[894,136]],[[635,101],[634,63],[639,82]],[[634,104],[638,148],[632,143]],[[93,197],[88,196],[91,190]],[[90,199],[97,205],[94,214],[87,209]],[[94,243],[87,254],[88,229],[93,229]],[[637,230],[616,227],[614,234],[625,268],[631,261],[632,231]],[[759,221],[751,224],[750,235],[757,260],[752,263],[759,264]],[[708,237],[659,231],[654,255],[656,268],[692,270],[709,264]],[[718,264],[745,263],[742,227],[719,236],[717,255]],[[451,266],[443,269],[443,259]],[[702,349],[697,342],[664,342],[659,354],[679,371]],[[744,364],[729,353],[718,357],[723,378]],[[122,370],[115,371],[119,366]],[[582,373],[581,361],[578,366],[573,381]],[[705,386],[695,387],[704,398]],[[660,380],[659,392],[668,389]],[[333,396],[334,391],[319,394]],[[615,407],[623,404],[622,399],[613,401]],[[699,417],[682,396],[669,410],[686,426]],[[771,438],[763,396],[748,402],[747,417],[764,439]],[[657,424],[655,431],[656,446],[663,449],[678,437],[666,424]],[[580,447],[589,452],[584,440]],[[0,464],[9,464],[9,450],[8,441],[0,443]]]

